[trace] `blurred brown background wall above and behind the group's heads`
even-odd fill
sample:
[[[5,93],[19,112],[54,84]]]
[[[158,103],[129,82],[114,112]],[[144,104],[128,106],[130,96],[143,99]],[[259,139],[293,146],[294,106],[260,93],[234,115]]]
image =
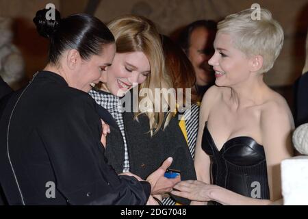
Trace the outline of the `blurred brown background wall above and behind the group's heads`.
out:
[[[283,51],[266,74],[266,83],[277,89],[290,88],[305,62],[308,0],[0,0],[0,16],[14,18],[14,44],[23,53],[27,77],[46,64],[48,42],[38,36],[31,20],[47,3],[54,3],[62,16],[94,12],[104,23],[123,14],[140,14],[154,21],[163,34],[198,19],[219,21],[259,3],[272,12],[285,31]]]

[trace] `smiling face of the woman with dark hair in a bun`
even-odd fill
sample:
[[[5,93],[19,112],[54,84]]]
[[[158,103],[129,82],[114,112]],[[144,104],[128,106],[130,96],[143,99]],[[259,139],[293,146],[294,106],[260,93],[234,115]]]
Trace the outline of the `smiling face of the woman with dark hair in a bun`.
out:
[[[70,79],[70,84],[74,88],[89,92],[101,81],[102,73],[112,64],[115,53],[116,45],[107,44],[103,47],[101,55],[92,55],[90,60],[81,60],[77,72]]]

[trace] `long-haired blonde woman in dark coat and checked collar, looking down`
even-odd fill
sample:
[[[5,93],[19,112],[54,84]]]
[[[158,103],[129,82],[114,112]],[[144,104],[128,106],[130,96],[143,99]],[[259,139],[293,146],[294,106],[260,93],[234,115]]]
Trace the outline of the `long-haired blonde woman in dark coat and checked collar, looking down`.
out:
[[[181,179],[196,179],[194,164],[188,145],[179,128],[177,117],[165,92],[159,96],[142,95],[142,91],[155,94],[155,88],[172,88],[166,74],[164,53],[155,25],[141,16],[122,16],[107,27],[116,41],[114,62],[103,73],[101,88],[90,95],[112,114],[119,129],[111,129],[105,155],[118,173],[131,172],[146,179],[167,157],[173,157],[172,166],[181,171]],[[140,89],[134,96],[137,106],[146,101],[147,110],[133,108],[125,94]],[[125,96],[125,97],[123,97]],[[124,113],[125,106],[132,105]],[[132,101],[133,102],[133,101]],[[157,105],[160,110],[155,112]],[[127,108],[126,108],[127,109]],[[135,110],[135,112],[132,112]],[[185,161],[185,162],[183,162]],[[174,204],[166,199],[164,203]]]

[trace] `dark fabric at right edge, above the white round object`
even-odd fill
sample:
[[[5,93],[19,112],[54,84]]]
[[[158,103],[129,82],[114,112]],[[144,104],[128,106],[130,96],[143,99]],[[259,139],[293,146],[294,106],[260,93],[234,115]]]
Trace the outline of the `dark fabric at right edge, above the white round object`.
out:
[[[308,123],[308,73],[294,83],[294,120],[296,127]]]

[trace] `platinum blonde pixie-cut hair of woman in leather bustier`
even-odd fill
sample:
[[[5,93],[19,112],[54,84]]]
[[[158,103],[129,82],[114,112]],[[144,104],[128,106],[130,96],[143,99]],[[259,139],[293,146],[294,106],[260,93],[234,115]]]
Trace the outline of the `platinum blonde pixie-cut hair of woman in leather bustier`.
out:
[[[272,18],[269,10],[260,9],[259,20],[253,20],[253,9],[231,14],[218,23],[218,32],[230,34],[233,45],[248,57],[261,55],[264,63],[259,73],[266,73],[274,66],[283,47],[283,29]]]

